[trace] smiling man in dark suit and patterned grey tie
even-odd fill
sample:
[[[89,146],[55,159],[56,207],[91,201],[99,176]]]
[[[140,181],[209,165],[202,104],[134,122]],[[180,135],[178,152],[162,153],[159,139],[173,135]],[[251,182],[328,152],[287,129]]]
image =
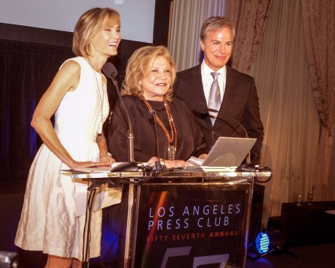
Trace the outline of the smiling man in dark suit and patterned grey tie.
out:
[[[257,141],[251,149],[251,163],[257,164],[263,140],[263,125],[255,80],[227,66],[234,43],[234,27],[225,17],[210,17],[200,32],[200,45],[204,52],[202,64],[177,73],[174,95],[183,98],[195,114],[207,144],[213,146],[220,136],[241,137],[244,126],[248,137]],[[219,103],[210,101],[214,74],[218,73]],[[205,107],[219,110],[206,113]],[[214,123],[211,122],[211,119]],[[236,120],[236,121],[234,121]]]

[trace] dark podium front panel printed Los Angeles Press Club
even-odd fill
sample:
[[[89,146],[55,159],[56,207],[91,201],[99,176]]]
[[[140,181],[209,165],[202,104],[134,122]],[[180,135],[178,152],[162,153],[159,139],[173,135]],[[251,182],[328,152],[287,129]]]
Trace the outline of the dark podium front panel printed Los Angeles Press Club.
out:
[[[131,267],[244,267],[250,184],[143,184]]]

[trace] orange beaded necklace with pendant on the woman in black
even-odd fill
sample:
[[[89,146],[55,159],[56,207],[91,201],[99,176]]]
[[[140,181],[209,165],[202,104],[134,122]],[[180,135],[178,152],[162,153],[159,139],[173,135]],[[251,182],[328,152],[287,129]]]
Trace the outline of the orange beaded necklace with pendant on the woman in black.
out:
[[[147,100],[145,98],[142,98],[142,100],[144,101],[145,105],[147,105],[148,110],[151,110],[152,107],[147,102]],[[168,116],[168,120],[169,120],[169,124],[171,128],[171,134],[169,133],[168,129],[164,126],[163,122],[161,121],[161,119],[158,117],[157,114],[156,114],[156,120],[157,120],[158,125],[164,131],[165,137],[168,140],[168,160],[174,160],[174,157],[176,156],[176,151],[177,151],[177,128],[174,125],[173,117],[172,117],[170,107],[167,101],[164,100],[163,102],[164,102],[166,114]]]

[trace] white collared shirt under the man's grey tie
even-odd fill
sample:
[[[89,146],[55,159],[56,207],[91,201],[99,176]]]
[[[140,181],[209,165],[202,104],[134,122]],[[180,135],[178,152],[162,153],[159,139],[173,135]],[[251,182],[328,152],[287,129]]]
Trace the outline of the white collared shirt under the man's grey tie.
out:
[[[213,77],[211,76],[212,72],[215,72],[215,70],[209,68],[207,64],[204,61],[202,61],[201,78],[202,78],[202,86],[204,89],[204,97],[206,98],[207,104],[209,99],[209,91],[211,90],[211,84],[213,83]],[[223,95],[225,94],[227,67],[223,66],[221,69],[217,70],[216,73],[220,74],[218,75],[218,87],[220,88],[220,97],[222,101]]]

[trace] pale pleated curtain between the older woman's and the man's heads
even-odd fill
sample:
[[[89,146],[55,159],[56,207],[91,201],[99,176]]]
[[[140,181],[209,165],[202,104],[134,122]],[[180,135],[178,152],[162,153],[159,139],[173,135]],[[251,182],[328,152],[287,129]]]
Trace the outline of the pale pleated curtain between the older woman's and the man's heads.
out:
[[[201,61],[200,29],[211,16],[225,13],[225,0],[174,0],[170,54],[177,71],[196,66]]]

